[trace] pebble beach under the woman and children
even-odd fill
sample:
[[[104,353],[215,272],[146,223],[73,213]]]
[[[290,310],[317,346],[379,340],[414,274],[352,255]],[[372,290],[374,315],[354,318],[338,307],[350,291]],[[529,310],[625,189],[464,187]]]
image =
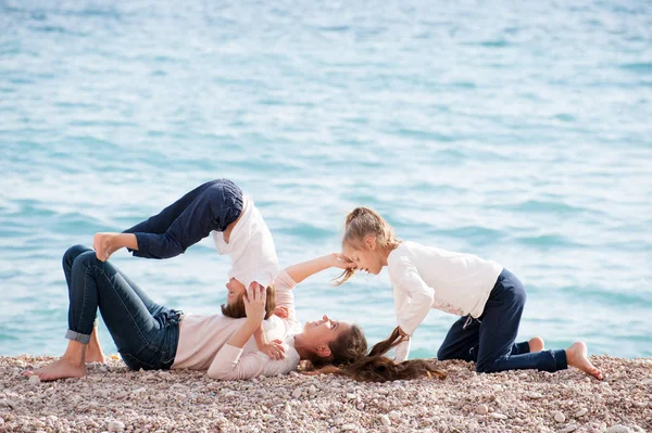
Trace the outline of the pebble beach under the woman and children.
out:
[[[335,375],[220,382],[205,372],[129,371],[117,356],[82,379],[23,373],[54,357],[0,357],[0,432],[650,432],[652,359],[592,356],[604,381],[556,373],[362,383]]]

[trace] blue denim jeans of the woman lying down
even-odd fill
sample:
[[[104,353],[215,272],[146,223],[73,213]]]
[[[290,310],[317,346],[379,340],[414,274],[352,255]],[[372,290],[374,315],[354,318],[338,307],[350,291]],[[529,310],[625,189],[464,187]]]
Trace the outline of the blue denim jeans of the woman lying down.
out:
[[[95,251],[75,245],[63,256],[68,286],[65,336],[88,344],[98,308],[123,360],[133,370],[168,369],[179,338],[180,311],[153,302]]]

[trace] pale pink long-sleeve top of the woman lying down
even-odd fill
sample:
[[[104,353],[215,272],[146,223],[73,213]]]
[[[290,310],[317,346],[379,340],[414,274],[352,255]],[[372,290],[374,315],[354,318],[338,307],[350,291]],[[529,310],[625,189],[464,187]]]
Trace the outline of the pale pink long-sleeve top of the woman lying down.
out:
[[[285,359],[273,360],[258,349],[253,336],[244,347],[228,341],[244,323],[246,318],[233,319],[222,315],[186,315],[179,323],[179,342],[173,369],[208,370],[213,379],[237,380],[258,375],[286,374],[299,365],[294,335],[302,332],[294,313],[294,280],[284,270],[275,279],[276,305],[288,308],[288,318],[272,316],[263,322],[267,341],[280,340]]]

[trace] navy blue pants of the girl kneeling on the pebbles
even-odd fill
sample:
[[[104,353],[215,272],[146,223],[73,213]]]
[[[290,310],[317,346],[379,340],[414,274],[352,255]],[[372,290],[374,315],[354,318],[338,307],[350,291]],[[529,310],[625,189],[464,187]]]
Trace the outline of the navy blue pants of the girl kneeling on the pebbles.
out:
[[[460,318],[437,352],[439,360],[464,359],[476,362],[482,373],[538,369],[557,371],[568,367],[565,351],[529,352],[527,342],[515,343],[525,305],[525,289],[509,270],[498,281],[477,320]]]

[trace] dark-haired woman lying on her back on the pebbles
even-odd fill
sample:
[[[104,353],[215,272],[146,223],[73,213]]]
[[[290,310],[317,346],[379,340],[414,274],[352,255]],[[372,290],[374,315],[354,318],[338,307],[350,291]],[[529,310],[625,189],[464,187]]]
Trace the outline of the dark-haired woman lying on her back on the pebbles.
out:
[[[214,379],[237,380],[285,374],[297,369],[300,360],[308,360],[313,371],[358,380],[443,378],[431,362],[417,359],[396,364],[384,357],[391,348],[386,344],[376,345],[367,355],[364,334],[354,324],[324,316],[301,327],[292,289],[321,270],[351,266],[341,255],[330,254],[288,267],[263,291],[258,284],[251,284],[248,294],[241,284],[229,286],[229,291],[239,292],[247,311],[246,318],[234,319],[184,315],[161,306],[110,262],[99,260],[95,251],[73,246],[63,257],[70,298],[68,346],[59,360],[26,374],[43,381],[80,378],[87,372],[85,362],[103,361],[93,330],[99,308],[123,360],[134,370],[188,368],[206,370]],[[265,296],[264,292],[269,293]],[[265,310],[265,297],[271,296],[277,306],[285,307],[287,317]],[[251,336],[261,323],[268,341],[281,343],[285,358],[271,359],[258,351]]]

